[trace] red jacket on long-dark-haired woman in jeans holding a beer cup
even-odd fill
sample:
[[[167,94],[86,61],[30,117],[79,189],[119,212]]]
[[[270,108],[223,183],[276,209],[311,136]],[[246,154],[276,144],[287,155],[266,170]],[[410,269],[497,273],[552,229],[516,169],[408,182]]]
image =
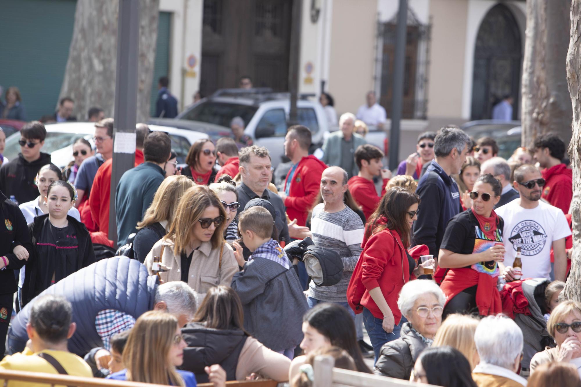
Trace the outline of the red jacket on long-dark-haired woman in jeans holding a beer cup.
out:
[[[368,239],[357,261],[351,281],[347,287],[347,302],[355,313],[366,307],[374,317],[383,318],[383,313],[371,298],[369,291],[379,286],[395,324],[399,324],[401,312],[397,297],[403,285],[410,281],[410,263],[397,231],[379,231]]]

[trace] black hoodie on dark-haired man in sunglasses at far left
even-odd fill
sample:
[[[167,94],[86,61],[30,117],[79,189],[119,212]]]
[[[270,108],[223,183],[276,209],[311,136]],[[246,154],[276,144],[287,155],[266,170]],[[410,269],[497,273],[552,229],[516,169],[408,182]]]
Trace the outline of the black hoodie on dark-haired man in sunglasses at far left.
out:
[[[48,153],[41,152],[40,158],[31,163],[24,160],[22,153],[19,153],[17,159],[10,160],[8,164],[2,164],[0,167],[0,191],[4,192],[7,198],[14,195],[20,204],[36,199],[38,187],[34,179],[38,170],[50,163],[51,155]]]

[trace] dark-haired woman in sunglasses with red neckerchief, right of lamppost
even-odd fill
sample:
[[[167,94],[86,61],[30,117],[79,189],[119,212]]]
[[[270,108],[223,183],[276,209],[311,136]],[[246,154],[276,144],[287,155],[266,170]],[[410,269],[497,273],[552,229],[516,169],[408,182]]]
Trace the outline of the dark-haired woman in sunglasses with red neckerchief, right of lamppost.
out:
[[[209,185],[214,181],[217,170],[216,147],[207,138],[199,139],[189,148],[188,156],[185,157],[187,168],[181,169],[181,174],[191,177],[193,182],[201,185]]]

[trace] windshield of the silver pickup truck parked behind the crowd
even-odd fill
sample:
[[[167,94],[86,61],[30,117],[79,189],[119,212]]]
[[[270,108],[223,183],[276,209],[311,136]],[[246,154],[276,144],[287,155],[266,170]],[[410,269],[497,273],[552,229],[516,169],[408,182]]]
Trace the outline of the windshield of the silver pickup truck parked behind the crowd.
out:
[[[205,101],[193,106],[191,110],[182,113],[178,119],[201,121],[229,128],[234,117],[241,117],[245,126],[248,125],[258,107],[238,103],[223,103]]]

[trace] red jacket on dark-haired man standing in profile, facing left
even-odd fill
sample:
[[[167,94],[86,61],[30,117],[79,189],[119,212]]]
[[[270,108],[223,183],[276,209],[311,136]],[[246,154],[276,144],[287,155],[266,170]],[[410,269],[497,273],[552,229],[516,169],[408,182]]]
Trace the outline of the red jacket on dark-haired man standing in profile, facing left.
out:
[[[290,184],[289,195],[285,199],[286,214],[290,220],[296,219],[297,225],[304,226],[307,223],[307,214],[317,199],[321,175],[326,168],[327,164],[310,155],[300,159],[292,181],[289,181],[290,170],[286,174],[285,191],[286,185]]]

